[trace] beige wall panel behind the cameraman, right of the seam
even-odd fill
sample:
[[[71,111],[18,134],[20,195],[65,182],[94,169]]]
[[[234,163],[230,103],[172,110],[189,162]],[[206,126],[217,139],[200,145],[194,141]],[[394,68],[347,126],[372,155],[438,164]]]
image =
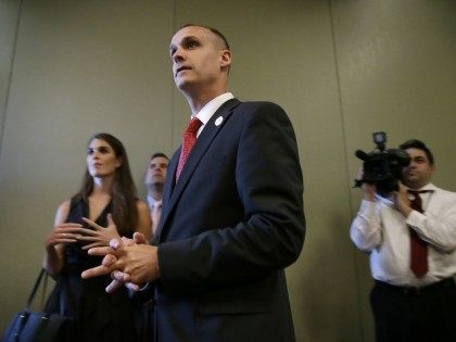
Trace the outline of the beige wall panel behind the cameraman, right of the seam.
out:
[[[435,183],[456,190],[456,3],[454,1],[333,1],[337,62],[350,174],[371,151],[371,132],[388,147],[425,140],[436,156]],[[352,214],[358,190],[352,190]],[[373,340],[368,257],[357,252],[364,341]]]

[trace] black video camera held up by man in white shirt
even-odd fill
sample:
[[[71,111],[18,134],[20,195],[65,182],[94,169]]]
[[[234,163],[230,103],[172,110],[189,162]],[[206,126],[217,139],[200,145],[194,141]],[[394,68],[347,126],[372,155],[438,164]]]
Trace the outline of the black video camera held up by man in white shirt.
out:
[[[355,180],[355,187],[363,182],[375,185],[377,193],[382,197],[398,190],[398,180],[402,179],[402,169],[410,164],[410,156],[401,149],[385,149],[387,134],[377,131],[372,134],[377,148],[366,153],[357,150],[355,155],[363,161],[363,178]]]

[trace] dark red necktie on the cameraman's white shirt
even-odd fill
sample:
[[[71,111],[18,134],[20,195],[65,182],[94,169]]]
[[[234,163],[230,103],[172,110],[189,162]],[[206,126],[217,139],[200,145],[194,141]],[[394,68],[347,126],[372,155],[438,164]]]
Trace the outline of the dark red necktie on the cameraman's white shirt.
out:
[[[413,210],[423,213],[422,201],[418,191],[408,190],[414,195],[410,201]],[[417,278],[421,278],[428,273],[428,243],[420,239],[418,233],[410,230],[410,269]]]

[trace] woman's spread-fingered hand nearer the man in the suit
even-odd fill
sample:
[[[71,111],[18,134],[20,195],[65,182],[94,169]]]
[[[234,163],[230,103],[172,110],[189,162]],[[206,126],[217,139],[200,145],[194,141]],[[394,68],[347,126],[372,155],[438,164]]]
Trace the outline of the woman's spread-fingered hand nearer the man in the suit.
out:
[[[107,227],[101,227],[100,225],[97,225],[94,221],[86,217],[83,217],[83,219],[90,227],[93,228],[93,230],[88,228],[81,228],[84,235],[80,236],[78,240],[91,242],[83,246],[83,250],[89,250],[96,246],[110,245],[110,241],[112,239],[121,238],[111,214],[107,214]]]

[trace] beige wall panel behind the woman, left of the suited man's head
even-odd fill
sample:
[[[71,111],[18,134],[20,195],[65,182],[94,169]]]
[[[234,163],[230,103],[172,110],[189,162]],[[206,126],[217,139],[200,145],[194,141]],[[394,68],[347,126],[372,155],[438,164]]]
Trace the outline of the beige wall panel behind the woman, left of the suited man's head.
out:
[[[139,188],[151,153],[172,151],[173,13],[170,1],[24,2],[0,164],[0,330],[80,183],[89,136],[124,142]]]

